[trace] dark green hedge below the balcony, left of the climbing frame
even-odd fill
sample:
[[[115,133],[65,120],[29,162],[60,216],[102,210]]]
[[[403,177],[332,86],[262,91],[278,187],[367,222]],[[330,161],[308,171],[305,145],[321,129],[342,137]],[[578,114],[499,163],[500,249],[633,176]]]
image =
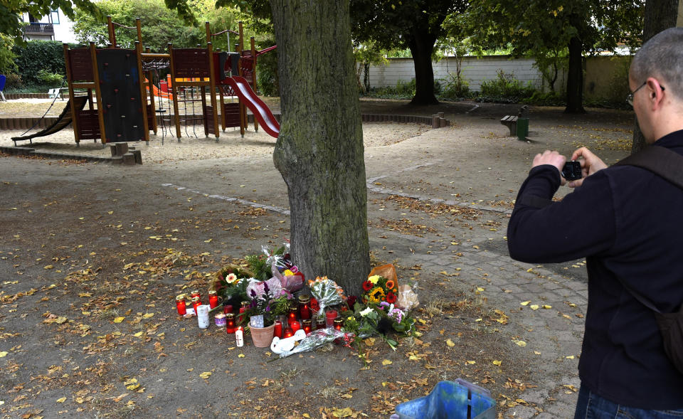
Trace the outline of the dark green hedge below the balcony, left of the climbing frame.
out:
[[[14,63],[26,86],[42,85],[46,73],[65,75],[64,50],[59,41],[28,41],[24,46],[15,45]],[[43,72],[41,73],[41,70]]]

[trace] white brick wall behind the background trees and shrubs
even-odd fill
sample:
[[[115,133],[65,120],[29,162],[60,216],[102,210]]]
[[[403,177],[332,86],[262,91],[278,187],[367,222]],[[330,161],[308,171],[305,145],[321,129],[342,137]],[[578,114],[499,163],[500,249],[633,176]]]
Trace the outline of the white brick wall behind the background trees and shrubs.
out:
[[[536,88],[543,87],[543,77],[539,70],[533,67],[534,60],[511,60],[507,55],[489,57],[465,57],[462,59],[462,78],[470,83],[470,90],[480,90],[482,81],[494,80],[497,71],[502,68],[505,74],[513,74],[514,78],[526,84],[531,82]],[[438,63],[432,63],[434,78],[448,78],[448,72],[455,74],[455,58],[443,58]],[[412,58],[389,58],[387,65],[371,66],[371,87],[395,86],[398,80],[409,82],[415,78],[415,67]]]

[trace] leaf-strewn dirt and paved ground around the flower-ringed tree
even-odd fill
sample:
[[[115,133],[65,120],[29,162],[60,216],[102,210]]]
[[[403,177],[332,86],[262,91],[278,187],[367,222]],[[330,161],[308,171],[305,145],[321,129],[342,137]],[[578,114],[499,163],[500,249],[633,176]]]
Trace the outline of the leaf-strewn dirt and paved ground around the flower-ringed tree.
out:
[[[583,261],[510,260],[507,216],[536,152],[588,144],[615,161],[628,154],[630,115],[533,108],[520,142],[497,121],[516,105],[361,105],[453,122],[364,124],[373,259],[417,281],[419,339],[397,351],[376,339],[369,368],[338,346],[275,360],[174,314],[175,295],[205,290],[222,264],[287,237],[265,134],[156,139],[135,167],[2,157],[2,417],[386,418],[457,377],[491,391],[503,417],[571,417]],[[69,134],[40,147],[75,150]],[[0,144],[10,136],[0,132]]]

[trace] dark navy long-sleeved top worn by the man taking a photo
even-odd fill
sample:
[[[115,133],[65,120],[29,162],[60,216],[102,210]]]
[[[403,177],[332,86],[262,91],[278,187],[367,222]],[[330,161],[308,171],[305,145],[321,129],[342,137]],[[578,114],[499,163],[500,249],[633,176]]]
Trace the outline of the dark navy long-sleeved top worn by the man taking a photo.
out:
[[[683,131],[652,147],[683,155]],[[561,202],[550,203],[559,186],[556,167],[531,169],[509,221],[508,245],[510,256],[524,262],[586,257],[581,385],[633,408],[683,408],[683,374],[665,354],[655,316],[620,282],[648,297],[661,312],[679,309],[683,190],[634,166],[598,171]]]

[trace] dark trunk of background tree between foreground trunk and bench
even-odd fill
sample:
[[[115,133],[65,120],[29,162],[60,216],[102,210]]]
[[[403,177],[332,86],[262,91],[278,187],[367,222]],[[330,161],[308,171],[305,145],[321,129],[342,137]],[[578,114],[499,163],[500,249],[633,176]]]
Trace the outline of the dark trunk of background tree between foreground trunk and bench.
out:
[[[434,96],[434,70],[432,53],[436,38],[428,33],[413,33],[408,47],[411,48],[415,65],[415,96],[411,105],[436,105]]]

